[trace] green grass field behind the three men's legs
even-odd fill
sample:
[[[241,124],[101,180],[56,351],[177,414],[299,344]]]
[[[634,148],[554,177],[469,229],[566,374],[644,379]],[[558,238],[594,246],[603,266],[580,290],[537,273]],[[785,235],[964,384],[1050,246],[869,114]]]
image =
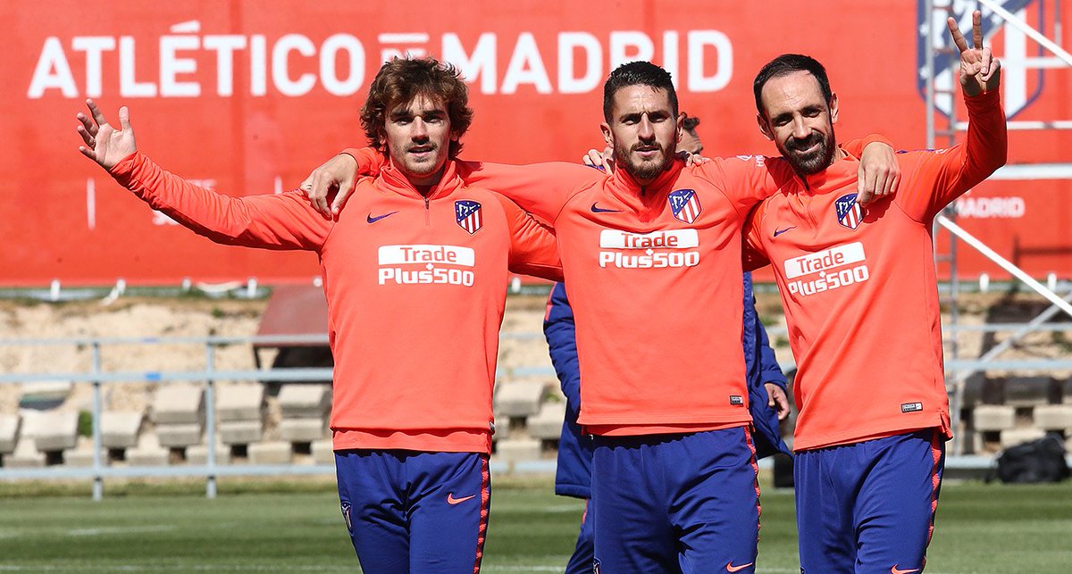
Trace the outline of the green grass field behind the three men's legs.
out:
[[[549,482],[501,482],[483,571],[561,572],[582,503]],[[355,572],[327,488],[109,490],[102,502],[0,490],[0,572]],[[759,572],[799,572],[792,493],[768,488],[762,504]],[[1072,572],[1072,483],[947,484],[928,555],[930,574]]]

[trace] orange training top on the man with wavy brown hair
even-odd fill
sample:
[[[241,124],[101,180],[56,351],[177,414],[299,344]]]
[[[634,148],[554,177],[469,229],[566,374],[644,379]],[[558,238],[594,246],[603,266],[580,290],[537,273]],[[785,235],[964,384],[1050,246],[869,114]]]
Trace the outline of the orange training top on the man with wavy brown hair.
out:
[[[554,236],[448,162],[422,197],[393,167],[326,221],[300,192],[234,198],[137,152],[120,184],[218,243],[319,256],[334,357],[336,450],[491,450],[507,270],[560,281]]]

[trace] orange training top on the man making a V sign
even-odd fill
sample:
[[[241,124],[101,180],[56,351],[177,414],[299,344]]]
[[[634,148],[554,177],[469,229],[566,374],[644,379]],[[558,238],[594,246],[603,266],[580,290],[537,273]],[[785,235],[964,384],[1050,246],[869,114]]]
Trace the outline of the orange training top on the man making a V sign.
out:
[[[932,222],[1007,149],[998,92],[966,101],[967,144],[898,154],[893,198],[861,209],[849,155],[791,177],[749,220],[745,267],[773,263],[796,358],[794,450],[928,427],[951,436]]]

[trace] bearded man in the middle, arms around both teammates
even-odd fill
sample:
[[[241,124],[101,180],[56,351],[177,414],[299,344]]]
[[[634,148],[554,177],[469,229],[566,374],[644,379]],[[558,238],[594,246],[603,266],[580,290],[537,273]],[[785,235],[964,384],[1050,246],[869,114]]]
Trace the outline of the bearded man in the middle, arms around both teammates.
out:
[[[619,165],[609,177],[562,163],[465,163],[462,175],[555,228],[584,381],[578,422],[595,435],[596,567],[753,572],[740,232],[791,170],[755,157],[686,167],[673,82],[649,62],[611,73],[604,115]],[[340,183],[336,208],[347,182],[382,161],[347,150],[307,182],[314,196]]]

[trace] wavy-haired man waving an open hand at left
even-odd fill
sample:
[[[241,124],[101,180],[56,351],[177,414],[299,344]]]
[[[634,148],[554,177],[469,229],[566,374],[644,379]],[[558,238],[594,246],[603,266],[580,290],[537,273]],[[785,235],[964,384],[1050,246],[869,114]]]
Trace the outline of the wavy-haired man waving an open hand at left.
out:
[[[562,275],[547,228],[458,177],[472,118],[458,72],[432,59],[384,64],[361,123],[388,165],[337,221],[299,192],[197,187],[137,151],[125,107],[117,131],[87,103],[79,150],[154,209],[218,243],[317,254],[339,497],[362,570],[479,571],[508,271]]]

